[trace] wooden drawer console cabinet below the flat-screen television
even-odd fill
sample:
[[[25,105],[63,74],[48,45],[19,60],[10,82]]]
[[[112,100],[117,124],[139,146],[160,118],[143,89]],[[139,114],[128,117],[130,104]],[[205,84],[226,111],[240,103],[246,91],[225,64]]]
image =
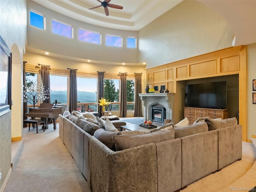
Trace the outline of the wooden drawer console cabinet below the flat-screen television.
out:
[[[228,109],[184,107],[184,110],[185,117],[188,118],[190,125],[193,124],[200,117],[210,117],[212,119],[228,118]]]

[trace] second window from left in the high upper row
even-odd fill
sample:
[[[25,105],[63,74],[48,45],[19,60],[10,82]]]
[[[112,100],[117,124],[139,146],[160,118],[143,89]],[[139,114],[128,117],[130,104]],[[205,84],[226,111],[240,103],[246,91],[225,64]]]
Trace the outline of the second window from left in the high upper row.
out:
[[[57,20],[52,20],[52,32],[64,37],[73,38],[73,27]]]

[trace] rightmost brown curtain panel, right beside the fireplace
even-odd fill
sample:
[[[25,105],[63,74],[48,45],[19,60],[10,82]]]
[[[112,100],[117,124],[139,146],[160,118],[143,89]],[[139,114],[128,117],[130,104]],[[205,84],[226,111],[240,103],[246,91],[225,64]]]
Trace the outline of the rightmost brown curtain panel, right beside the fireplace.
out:
[[[135,74],[135,83],[134,83],[134,117],[142,117],[142,102],[140,100],[139,93],[142,92],[141,88],[141,73]]]

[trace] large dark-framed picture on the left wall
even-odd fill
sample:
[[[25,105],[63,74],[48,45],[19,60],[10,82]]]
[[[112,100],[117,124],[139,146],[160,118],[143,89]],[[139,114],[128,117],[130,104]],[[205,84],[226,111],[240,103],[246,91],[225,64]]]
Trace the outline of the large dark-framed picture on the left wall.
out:
[[[0,36],[0,116],[11,109],[11,51]]]

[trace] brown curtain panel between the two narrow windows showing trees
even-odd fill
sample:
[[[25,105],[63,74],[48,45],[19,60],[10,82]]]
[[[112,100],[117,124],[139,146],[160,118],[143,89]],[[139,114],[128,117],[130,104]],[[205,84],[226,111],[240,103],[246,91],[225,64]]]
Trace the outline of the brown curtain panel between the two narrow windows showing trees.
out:
[[[120,74],[120,117],[127,115],[127,87],[126,87],[126,73]]]

